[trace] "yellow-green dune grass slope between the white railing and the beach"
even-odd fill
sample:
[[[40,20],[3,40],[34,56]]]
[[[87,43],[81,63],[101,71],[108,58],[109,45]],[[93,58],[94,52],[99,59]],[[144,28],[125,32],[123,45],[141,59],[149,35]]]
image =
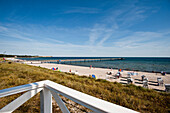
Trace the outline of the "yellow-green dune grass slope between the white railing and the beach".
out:
[[[170,94],[165,92],[100,79],[95,80],[25,64],[0,63],[0,90],[47,79],[139,112],[170,112]],[[19,95],[0,98],[0,108]],[[16,111],[39,112],[39,105],[38,94]]]

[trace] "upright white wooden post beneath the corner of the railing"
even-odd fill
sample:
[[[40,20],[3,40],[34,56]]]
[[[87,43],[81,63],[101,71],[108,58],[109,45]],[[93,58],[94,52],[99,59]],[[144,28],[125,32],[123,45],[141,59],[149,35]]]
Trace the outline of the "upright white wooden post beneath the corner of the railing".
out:
[[[52,113],[52,95],[49,89],[45,88],[40,92],[41,113]]]

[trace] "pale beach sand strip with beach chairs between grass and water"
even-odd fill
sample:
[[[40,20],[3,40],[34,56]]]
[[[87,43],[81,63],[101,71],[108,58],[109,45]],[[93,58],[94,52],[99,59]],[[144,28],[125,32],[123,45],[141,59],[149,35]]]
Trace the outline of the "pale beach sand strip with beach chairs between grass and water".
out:
[[[106,75],[107,72],[112,72],[112,75],[108,75],[109,78],[107,78],[108,81],[110,82],[119,82],[122,84],[127,84],[127,73],[128,72],[133,72],[133,71],[126,71],[123,70],[123,72],[121,72],[122,77],[115,79],[115,77],[113,77],[113,75],[117,74],[118,70],[116,69],[105,69],[105,68],[91,68],[90,67],[83,67],[83,66],[74,66],[74,65],[65,65],[65,64],[52,64],[52,63],[33,63],[31,64],[30,62],[24,62],[28,65],[32,65],[32,66],[40,66],[40,67],[44,67],[44,68],[56,68],[58,67],[59,70],[61,70],[61,72],[69,72],[70,70],[72,72],[78,72],[77,74],[79,76],[89,76],[89,75],[96,75],[97,79],[106,79]],[[170,74],[166,74],[165,76],[161,75],[160,73],[149,73],[149,72],[137,72],[138,75],[134,75],[131,76],[131,78],[133,78],[134,82],[133,84],[137,85],[137,86],[143,86],[143,82],[141,81],[141,76],[145,75],[146,78],[148,78],[149,82],[149,89],[155,89],[157,91],[163,91],[165,90],[165,86],[158,86],[157,84],[157,77],[161,77],[164,81],[164,84],[170,84]]]

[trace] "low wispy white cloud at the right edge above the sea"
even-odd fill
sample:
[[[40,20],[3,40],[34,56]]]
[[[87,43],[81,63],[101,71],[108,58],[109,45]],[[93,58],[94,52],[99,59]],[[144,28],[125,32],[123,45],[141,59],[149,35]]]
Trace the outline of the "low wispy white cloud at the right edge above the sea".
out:
[[[152,47],[165,47],[167,42],[170,41],[169,38],[169,32],[131,32],[126,37],[114,41],[113,45],[121,48],[138,48],[148,45]]]

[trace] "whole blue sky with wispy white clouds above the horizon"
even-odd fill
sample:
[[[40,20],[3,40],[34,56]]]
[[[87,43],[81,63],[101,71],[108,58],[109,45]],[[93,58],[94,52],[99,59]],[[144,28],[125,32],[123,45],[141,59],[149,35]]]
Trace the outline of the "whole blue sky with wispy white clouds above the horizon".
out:
[[[0,0],[0,53],[170,56],[169,0]]]

